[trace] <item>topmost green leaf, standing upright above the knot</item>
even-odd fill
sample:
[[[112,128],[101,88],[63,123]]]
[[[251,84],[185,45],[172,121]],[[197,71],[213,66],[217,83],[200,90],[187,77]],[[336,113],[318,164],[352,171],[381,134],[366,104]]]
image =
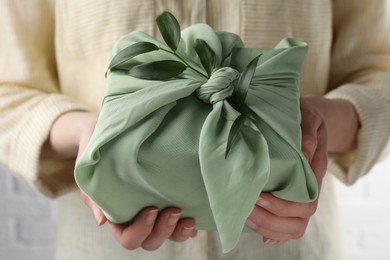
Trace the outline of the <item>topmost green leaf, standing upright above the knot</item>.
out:
[[[163,12],[157,17],[156,22],[165,43],[171,50],[176,51],[181,37],[180,25],[176,18],[169,12]]]

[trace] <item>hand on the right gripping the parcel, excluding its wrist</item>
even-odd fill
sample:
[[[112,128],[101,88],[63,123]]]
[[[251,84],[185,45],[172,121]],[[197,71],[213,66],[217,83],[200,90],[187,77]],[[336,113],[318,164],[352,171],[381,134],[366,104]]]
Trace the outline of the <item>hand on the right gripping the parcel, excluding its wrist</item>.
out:
[[[321,187],[328,163],[327,127],[316,102],[301,98],[301,114],[302,152]],[[317,204],[318,198],[310,203],[297,203],[263,193],[246,225],[262,235],[265,243],[283,244],[303,236]]]

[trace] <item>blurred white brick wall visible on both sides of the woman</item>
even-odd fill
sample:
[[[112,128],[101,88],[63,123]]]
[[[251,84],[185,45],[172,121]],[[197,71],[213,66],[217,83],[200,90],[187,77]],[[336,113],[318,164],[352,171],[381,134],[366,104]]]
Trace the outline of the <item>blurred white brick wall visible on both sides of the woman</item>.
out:
[[[337,184],[347,259],[389,260],[390,158],[353,186]],[[52,260],[55,212],[53,201],[0,168],[0,259]]]

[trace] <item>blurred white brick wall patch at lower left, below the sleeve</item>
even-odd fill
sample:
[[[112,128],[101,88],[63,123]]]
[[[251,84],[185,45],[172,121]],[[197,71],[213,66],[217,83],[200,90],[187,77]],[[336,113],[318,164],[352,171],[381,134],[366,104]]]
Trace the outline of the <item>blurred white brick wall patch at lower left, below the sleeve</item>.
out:
[[[52,260],[53,202],[0,168],[0,259]]]

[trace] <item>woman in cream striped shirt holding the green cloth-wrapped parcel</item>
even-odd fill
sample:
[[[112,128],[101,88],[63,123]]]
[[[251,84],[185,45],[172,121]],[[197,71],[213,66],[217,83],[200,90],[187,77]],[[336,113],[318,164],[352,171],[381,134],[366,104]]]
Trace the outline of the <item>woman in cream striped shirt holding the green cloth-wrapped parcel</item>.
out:
[[[3,0],[1,6],[0,162],[57,197],[56,259],[342,259],[330,173],[352,184],[389,140],[387,1]],[[246,223],[258,234],[244,234],[226,255],[216,234],[192,238],[196,223],[180,220],[180,209],[147,208],[132,225],[98,228],[74,185],[75,158],[96,122],[111,47],[133,30],[154,35],[154,19],[165,10],[182,28],[207,22],[240,35],[247,47],[272,48],[286,36],[309,45],[302,150],[322,184],[319,201],[262,194]],[[84,200],[103,225],[102,212]]]

